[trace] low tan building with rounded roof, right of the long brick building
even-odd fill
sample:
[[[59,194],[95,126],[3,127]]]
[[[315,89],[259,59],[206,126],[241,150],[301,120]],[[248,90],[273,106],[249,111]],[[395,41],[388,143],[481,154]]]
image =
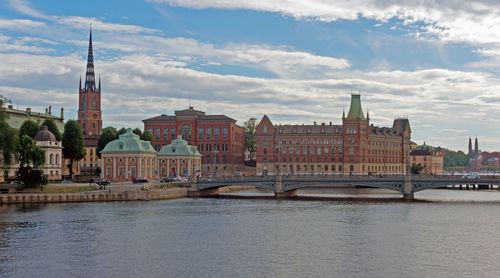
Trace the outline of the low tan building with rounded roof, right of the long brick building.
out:
[[[444,173],[444,153],[426,145],[417,146],[410,152],[411,165],[422,165],[423,175],[442,175]]]

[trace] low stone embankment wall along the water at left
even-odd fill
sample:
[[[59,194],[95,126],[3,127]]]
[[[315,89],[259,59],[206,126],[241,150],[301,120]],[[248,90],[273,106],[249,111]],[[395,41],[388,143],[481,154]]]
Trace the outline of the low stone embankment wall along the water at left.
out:
[[[81,193],[14,193],[0,194],[0,204],[113,202],[170,200],[188,197],[187,188],[151,189],[144,191],[91,191]]]

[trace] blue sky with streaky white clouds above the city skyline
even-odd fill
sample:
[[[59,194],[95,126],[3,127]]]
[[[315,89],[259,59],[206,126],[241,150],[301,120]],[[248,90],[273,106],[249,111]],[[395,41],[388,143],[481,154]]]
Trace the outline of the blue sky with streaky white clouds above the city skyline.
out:
[[[413,141],[499,150],[497,0],[5,0],[0,94],[75,119],[92,25],[104,126],[189,105],[240,125],[341,124],[351,93]]]

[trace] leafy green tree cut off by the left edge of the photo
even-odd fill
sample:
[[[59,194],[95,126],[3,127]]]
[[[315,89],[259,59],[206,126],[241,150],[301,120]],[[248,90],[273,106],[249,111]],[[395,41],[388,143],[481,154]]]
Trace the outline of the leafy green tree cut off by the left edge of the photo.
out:
[[[0,166],[10,168],[17,154],[17,131],[7,123],[9,115],[0,98]]]

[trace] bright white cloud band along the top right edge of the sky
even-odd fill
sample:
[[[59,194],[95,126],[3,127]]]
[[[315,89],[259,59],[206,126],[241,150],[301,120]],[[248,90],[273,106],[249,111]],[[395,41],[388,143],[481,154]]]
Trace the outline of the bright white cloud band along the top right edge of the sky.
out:
[[[192,9],[245,9],[280,13],[297,20],[332,22],[360,17],[381,23],[401,21],[409,34],[419,39],[468,43],[483,54],[500,49],[500,3],[456,0],[149,0]],[[393,26],[398,28],[398,26]],[[402,29],[403,30],[403,29]]]

